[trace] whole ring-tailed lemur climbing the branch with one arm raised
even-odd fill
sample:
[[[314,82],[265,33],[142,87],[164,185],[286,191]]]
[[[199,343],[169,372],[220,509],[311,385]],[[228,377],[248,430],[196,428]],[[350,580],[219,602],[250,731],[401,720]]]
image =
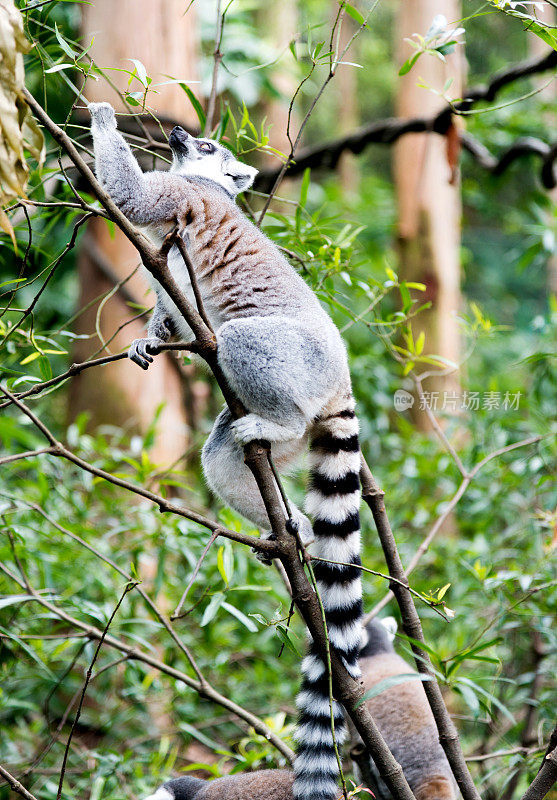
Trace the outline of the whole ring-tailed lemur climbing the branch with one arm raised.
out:
[[[241,212],[234,196],[251,185],[256,170],[241,164],[217,142],[194,139],[182,128],[170,135],[169,172],[142,173],[116,130],[107,103],[90,107],[96,172],[113,200],[155,241],[179,225],[187,241],[205,310],[215,330],[219,364],[248,410],[233,420],[221,412],[203,448],[209,486],[224,502],[261,529],[268,517],[242,446],[272,444],[279,469],[310,443],[311,485],[306,511],[313,518],[313,554],[345,565],[314,562],[329,638],[347,669],[358,677],[361,635],[361,565],[358,421],[346,352],[340,334],[302,278]],[[178,286],[192,298],[176,248],[168,264]],[[146,339],[130,348],[144,369],[150,349],[172,334],[191,332],[164,289],[153,281],[157,304]],[[294,505],[300,535],[312,536],[308,518]],[[333,800],[338,767],[331,732],[325,666],[310,644],[297,699],[296,800]],[[333,702],[340,743],[346,725]]]

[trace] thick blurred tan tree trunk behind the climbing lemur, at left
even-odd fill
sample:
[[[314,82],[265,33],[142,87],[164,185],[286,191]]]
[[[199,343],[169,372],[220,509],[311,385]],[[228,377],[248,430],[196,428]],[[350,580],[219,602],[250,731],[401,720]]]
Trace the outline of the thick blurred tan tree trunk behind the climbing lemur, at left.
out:
[[[167,81],[168,76],[189,81],[196,77],[195,12],[190,8],[185,13],[182,0],[119,0],[117,3],[94,0],[81,8],[84,41],[88,44],[94,39],[91,55],[103,69],[133,70],[130,59],[135,58],[145,65],[153,84]],[[108,71],[108,75],[120,90],[127,88],[127,74]],[[161,86],[156,91],[158,94],[152,92],[147,102],[157,114],[196,126],[193,109],[179,86]],[[117,94],[102,80],[89,81],[85,94],[90,101],[109,100],[117,110],[122,110]],[[78,258],[79,307],[92,304],[78,319],[76,327],[78,333],[93,334],[90,339],[78,340],[75,352],[78,360],[84,360],[102,346],[95,336],[99,309],[95,298],[114,287],[106,269],[103,273],[103,263],[117,280],[122,280],[135,269],[139,259],[119,231],[111,237],[106,223],[95,220],[89,225]],[[154,294],[147,294],[147,282],[139,271],[125,287],[137,302],[147,306],[154,304]],[[98,327],[104,341],[125,325],[110,342],[112,352],[124,349],[133,339],[145,335],[146,319],[132,320],[136,313],[122,293],[112,296],[102,308]],[[72,382],[70,414],[75,416],[87,410],[92,415],[93,426],[110,422],[144,432],[152,423],[157,408],[164,404],[152,457],[158,463],[172,463],[184,452],[187,443],[182,381],[172,358],[172,355],[158,356],[147,373],[129,361],[110,364],[100,371],[95,370],[94,374],[93,370],[86,370]]]

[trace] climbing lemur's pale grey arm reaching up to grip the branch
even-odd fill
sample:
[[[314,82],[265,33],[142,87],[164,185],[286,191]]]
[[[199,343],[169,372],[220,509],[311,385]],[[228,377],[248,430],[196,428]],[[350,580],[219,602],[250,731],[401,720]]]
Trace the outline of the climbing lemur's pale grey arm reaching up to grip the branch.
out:
[[[91,133],[98,179],[118,208],[136,225],[176,220],[188,211],[187,183],[169,172],[142,172],[128,143],[116,130],[109,103],[91,103]]]

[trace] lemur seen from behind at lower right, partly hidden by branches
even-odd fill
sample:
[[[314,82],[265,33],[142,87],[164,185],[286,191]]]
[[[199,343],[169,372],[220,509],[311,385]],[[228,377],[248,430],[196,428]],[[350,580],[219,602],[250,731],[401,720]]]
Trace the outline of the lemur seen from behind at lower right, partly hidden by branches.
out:
[[[385,622],[372,620],[366,626],[367,643],[360,652],[360,668],[366,691],[393,675],[415,673],[395,653],[392,644],[394,632],[389,632]],[[401,765],[416,800],[454,800],[458,790],[439,743],[437,726],[421,681],[408,680],[390,686],[367,700],[366,705],[390,751]],[[350,728],[353,743],[361,742],[352,725]],[[371,758],[369,773],[374,784],[369,788],[377,800],[390,800],[391,794]]]

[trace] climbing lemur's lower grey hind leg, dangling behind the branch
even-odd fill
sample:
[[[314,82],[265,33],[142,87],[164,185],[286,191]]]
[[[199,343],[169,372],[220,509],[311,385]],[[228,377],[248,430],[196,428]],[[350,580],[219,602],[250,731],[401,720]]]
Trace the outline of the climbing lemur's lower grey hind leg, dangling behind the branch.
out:
[[[277,469],[288,468],[305,447],[305,438],[277,443],[272,446]],[[201,453],[205,479],[221,500],[253,522],[264,535],[269,530],[269,517],[255,479],[244,463],[244,451],[233,431],[233,419],[228,408],[221,411]],[[308,518],[289,501],[292,518],[298,524],[304,540],[312,538]]]

